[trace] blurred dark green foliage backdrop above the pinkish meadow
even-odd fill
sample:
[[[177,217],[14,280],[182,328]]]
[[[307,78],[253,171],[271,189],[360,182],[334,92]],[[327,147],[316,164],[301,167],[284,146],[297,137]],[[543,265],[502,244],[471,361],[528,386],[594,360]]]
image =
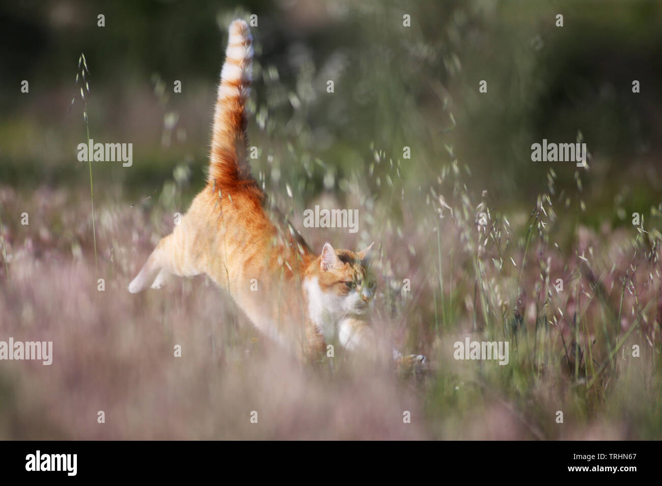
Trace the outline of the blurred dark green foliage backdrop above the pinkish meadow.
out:
[[[105,27],[97,26],[99,13]],[[84,140],[81,107],[68,103],[85,52],[91,137],[134,143],[136,160],[130,169],[97,165],[96,177],[134,197],[185,163],[193,194],[205,170],[226,25],[251,13],[259,22],[250,126],[261,154],[256,175],[280,176],[305,197],[323,190],[324,177],[338,184],[352,175],[379,192],[385,173],[369,169],[374,147],[386,160],[401,159],[409,189],[425,190],[457,157],[471,168],[473,190],[519,206],[545,188],[549,168],[530,160],[530,145],[574,142],[581,132],[592,156],[589,213],[604,209],[596,222],[616,220],[616,196],[656,202],[656,1],[3,2],[0,181],[84,183],[73,149]],[[555,26],[558,13],[563,27]],[[29,94],[19,91],[23,79]],[[175,79],[181,94],[172,93]],[[326,93],[329,79],[334,93]],[[641,93],[632,93],[634,79]],[[479,93],[481,80],[487,93]],[[177,121],[164,143],[169,114]],[[402,159],[404,146],[411,159]],[[571,163],[553,167],[561,188],[573,184]]]

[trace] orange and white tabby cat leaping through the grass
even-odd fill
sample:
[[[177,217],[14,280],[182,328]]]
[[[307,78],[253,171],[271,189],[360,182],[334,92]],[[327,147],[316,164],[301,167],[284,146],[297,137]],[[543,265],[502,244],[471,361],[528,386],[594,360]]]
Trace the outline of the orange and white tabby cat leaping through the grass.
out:
[[[367,274],[372,245],[352,253],[326,243],[315,255],[283,216],[267,216],[266,196],[250,175],[245,105],[252,57],[248,24],[234,20],[218,87],[207,186],[128,290],[140,292],[150,283],[160,288],[169,274],[207,274],[260,331],[301,358],[319,356],[333,339],[372,352],[373,331],[363,319],[374,292]]]

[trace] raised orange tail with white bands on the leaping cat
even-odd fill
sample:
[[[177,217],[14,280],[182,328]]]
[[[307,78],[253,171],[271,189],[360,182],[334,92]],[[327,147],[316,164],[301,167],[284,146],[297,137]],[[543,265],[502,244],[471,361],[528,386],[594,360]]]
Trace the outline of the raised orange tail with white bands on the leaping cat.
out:
[[[253,38],[244,20],[230,24],[214,113],[209,182],[227,187],[251,180],[246,160],[246,101],[250,93]]]

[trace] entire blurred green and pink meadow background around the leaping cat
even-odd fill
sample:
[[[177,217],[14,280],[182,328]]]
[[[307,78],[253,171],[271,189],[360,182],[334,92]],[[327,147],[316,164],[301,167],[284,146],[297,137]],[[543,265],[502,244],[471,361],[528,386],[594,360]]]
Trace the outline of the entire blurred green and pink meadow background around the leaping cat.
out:
[[[422,382],[311,378],[201,279],[124,290],[205,184],[226,29],[253,14],[253,173],[313,248],[379,243],[375,314],[428,354]],[[660,438],[661,22],[659,1],[0,1],[0,339],[56,348],[50,367],[0,364],[0,437]],[[133,144],[132,167],[92,163],[96,233],[87,130]],[[587,143],[588,167],[532,162],[544,138]],[[359,232],[304,228],[320,202],[360,208]],[[647,351],[621,369],[631,328]],[[523,347],[508,372],[459,366],[461,333]],[[177,339],[197,350],[185,369]],[[250,401],[278,425],[218,417]]]

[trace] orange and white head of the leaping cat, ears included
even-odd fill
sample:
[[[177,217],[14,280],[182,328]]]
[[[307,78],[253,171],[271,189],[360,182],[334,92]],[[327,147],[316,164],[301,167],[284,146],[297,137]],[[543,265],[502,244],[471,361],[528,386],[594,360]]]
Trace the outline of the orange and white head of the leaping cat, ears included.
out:
[[[334,250],[326,243],[312,268],[309,304],[340,316],[365,313],[375,295],[375,279],[368,268],[372,246],[354,253]]]

